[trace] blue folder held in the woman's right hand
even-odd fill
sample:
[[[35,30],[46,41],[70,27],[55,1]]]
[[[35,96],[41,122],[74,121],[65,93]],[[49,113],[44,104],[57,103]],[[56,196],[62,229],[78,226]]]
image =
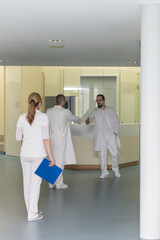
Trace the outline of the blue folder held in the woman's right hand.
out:
[[[37,170],[35,171],[35,174],[37,174],[39,177],[43,178],[47,182],[54,184],[59,175],[62,172],[62,169],[58,166],[54,165],[53,167],[49,167],[49,160],[44,158]]]

